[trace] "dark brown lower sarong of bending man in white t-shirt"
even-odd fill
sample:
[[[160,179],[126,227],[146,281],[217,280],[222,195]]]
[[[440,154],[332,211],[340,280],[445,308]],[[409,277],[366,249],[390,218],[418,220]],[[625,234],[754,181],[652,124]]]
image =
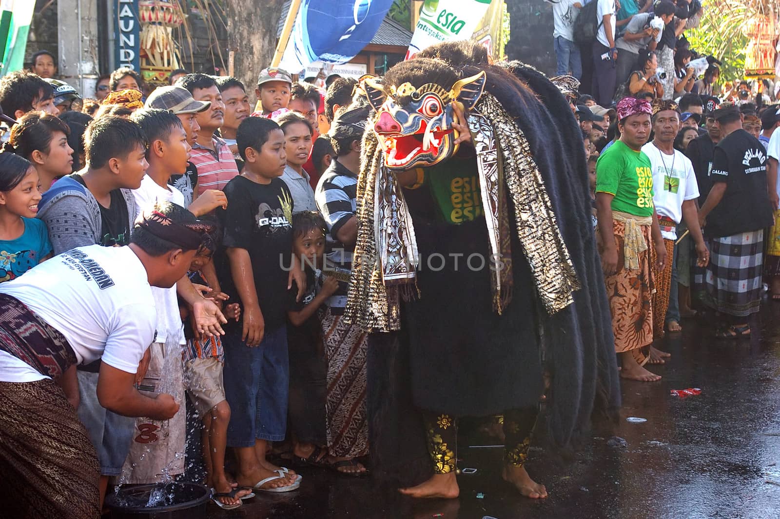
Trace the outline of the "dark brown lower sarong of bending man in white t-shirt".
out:
[[[100,465],[62,388],[0,382],[0,414],[0,516],[100,517]]]

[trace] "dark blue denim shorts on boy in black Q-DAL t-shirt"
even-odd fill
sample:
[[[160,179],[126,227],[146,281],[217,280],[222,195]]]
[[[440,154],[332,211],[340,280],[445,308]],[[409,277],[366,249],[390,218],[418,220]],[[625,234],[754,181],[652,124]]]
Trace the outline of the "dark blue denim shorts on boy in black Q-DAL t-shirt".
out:
[[[287,328],[266,331],[250,348],[241,330],[222,338],[225,347],[225,397],[230,405],[227,443],[251,447],[256,439],[280,442],[287,429],[289,358]]]

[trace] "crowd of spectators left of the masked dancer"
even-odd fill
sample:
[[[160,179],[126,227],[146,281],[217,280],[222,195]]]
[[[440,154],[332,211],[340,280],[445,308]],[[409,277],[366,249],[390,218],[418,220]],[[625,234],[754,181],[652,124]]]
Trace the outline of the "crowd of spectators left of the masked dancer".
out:
[[[326,93],[268,68],[251,107],[252,91],[229,76],[177,70],[171,85],[148,89],[123,68],[98,80],[94,99],[82,99],[52,77],[47,52],[34,56],[32,69],[0,81],[0,282],[9,282],[0,290],[9,307],[29,307],[35,322],[55,326],[70,347],[55,368],[43,368],[29,351],[4,344],[0,364],[2,382],[57,381],[86,427],[100,493],[87,499],[94,510],[76,507],[78,517],[99,512],[111,478],[134,484],[183,474],[185,395],[203,422],[204,482],[220,507],[240,507],[253,492],[298,488],[300,475],[268,461],[271,443],[288,464],[366,475],[359,461],[367,454],[365,335],[340,323],[348,261],[340,258],[336,275],[323,275],[326,242],[339,251],[355,240],[365,122],[356,119],[367,114],[336,114],[351,103],[356,81],[332,76]],[[140,264],[124,258],[128,272],[121,272],[108,265],[119,262],[110,252],[126,245]],[[168,258],[168,271],[182,271],[174,284],[171,272],[151,272],[144,254],[159,263],[176,248],[186,254]],[[100,315],[86,312],[59,326],[51,312],[81,313],[77,308],[94,300],[47,293],[45,300],[64,305],[47,310],[22,292],[50,284],[27,273],[37,265],[39,275],[73,268],[73,259],[61,258],[94,265],[76,272],[121,297],[99,301]],[[149,319],[154,337],[142,329]],[[22,324],[8,322],[4,330],[16,334]],[[145,355],[112,356],[133,339],[151,344]],[[101,340],[105,351],[97,349]],[[88,352],[80,350],[85,344]],[[124,393],[108,395],[106,371],[127,375],[123,382],[140,390],[147,407],[128,407]],[[328,387],[333,381],[338,387]],[[229,475],[228,446],[235,454]],[[37,460],[31,455],[26,463]],[[91,468],[74,461],[76,477],[67,485],[83,487],[79,496],[89,491],[81,477]],[[61,484],[62,470],[49,474],[47,485]],[[41,498],[47,500],[44,516],[62,504],[54,495]],[[30,503],[19,504],[22,515],[30,512]]]

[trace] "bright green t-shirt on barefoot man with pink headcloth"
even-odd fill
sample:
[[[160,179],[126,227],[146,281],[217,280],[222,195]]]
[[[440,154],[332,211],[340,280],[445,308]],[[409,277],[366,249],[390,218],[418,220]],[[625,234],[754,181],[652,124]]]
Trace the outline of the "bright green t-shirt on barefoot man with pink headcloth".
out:
[[[615,196],[612,198],[612,211],[652,216],[653,169],[650,158],[618,140],[596,162],[596,192]]]

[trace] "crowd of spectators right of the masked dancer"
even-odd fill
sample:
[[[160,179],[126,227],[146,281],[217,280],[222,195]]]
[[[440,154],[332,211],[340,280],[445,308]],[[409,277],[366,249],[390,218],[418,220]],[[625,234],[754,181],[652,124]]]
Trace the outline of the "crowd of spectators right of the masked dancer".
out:
[[[621,376],[654,381],[644,366],[670,356],[652,344],[683,318],[746,337],[765,286],[780,300],[776,89],[718,84],[721,63],[685,37],[698,0],[592,3],[553,5],[558,73],[583,133]],[[577,17],[594,13],[594,41],[575,44]]]

